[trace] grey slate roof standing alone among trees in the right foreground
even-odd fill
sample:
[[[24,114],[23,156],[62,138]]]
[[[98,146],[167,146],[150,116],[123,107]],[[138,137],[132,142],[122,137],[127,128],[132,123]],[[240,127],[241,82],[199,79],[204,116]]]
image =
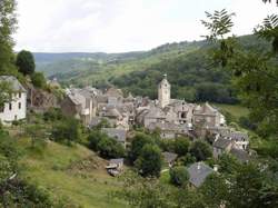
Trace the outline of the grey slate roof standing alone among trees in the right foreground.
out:
[[[189,174],[189,181],[197,188],[214,172],[214,169],[203,162],[192,164],[187,170]]]

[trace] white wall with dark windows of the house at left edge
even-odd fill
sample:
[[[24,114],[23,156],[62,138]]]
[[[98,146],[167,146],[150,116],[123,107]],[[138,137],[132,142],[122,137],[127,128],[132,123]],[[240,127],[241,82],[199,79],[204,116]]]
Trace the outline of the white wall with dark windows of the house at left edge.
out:
[[[21,108],[19,109],[19,103],[21,103]],[[21,120],[26,118],[27,111],[27,93],[21,92],[21,98],[19,98],[19,93],[12,97],[11,101],[11,110],[9,108],[9,103],[4,103],[3,112],[0,112],[0,120],[3,123],[12,122],[13,120]]]

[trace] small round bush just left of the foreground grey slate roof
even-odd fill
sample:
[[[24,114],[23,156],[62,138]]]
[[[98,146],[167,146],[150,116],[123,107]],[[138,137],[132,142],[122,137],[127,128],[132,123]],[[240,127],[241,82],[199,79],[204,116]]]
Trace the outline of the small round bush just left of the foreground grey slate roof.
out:
[[[170,169],[170,181],[176,186],[185,187],[188,184],[189,174],[185,166],[177,166]]]

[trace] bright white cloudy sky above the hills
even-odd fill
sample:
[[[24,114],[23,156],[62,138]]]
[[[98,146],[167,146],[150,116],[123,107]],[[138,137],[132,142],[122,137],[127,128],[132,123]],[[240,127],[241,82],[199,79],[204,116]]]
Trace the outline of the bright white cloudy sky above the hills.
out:
[[[237,36],[278,12],[261,0],[18,0],[16,50],[126,52],[200,40],[205,11],[221,9],[236,12]]]

